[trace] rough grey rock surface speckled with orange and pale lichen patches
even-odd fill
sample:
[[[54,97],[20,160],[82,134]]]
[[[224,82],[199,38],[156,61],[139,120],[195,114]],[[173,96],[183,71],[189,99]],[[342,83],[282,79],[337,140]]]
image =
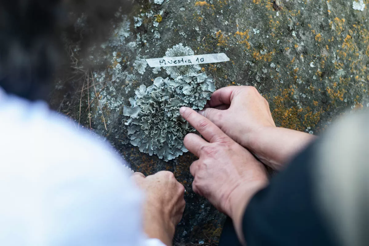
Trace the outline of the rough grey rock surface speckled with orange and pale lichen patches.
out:
[[[200,65],[217,88],[255,86],[278,126],[319,134],[347,108],[369,106],[369,0],[363,11],[351,0],[158,2],[135,1],[128,15],[117,10],[107,27],[111,37],[87,52],[83,35],[65,39],[72,66],[61,68],[51,105],[109,141],[132,169],[173,171],[187,190],[175,243],[216,243],[225,217],[192,192],[189,166],[196,158],[186,153],[164,162],[127,139],[123,105],[139,85],[168,76],[144,59],[162,57],[179,43],[196,55],[224,52],[230,62]],[[88,28],[83,16],[75,28],[82,34]]]

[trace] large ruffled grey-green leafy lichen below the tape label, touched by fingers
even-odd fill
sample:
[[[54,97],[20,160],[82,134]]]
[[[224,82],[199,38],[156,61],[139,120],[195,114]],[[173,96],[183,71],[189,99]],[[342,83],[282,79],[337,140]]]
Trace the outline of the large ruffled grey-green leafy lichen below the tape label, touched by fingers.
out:
[[[204,108],[215,91],[215,83],[205,73],[191,73],[172,80],[157,77],[152,86],[141,85],[130,98],[130,107],[123,114],[129,116],[130,142],[149,155],[165,161],[175,159],[187,149],[183,138],[195,130],[179,114],[179,108]]]

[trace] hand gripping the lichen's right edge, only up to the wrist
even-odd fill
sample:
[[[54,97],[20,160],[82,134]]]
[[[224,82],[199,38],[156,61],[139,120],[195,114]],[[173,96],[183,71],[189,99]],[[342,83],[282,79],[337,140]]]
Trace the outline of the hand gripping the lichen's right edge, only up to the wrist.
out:
[[[199,113],[242,146],[260,128],[276,127],[268,101],[252,86],[218,89],[205,107]]]

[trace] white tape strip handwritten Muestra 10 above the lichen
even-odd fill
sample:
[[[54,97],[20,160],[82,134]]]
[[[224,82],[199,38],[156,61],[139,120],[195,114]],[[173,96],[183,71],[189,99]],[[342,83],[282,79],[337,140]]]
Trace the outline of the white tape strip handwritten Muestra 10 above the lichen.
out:
[[[146,59],[150,67],[186,66],[203,63],[228,62],[230,59],[225,53],[177,56]]]

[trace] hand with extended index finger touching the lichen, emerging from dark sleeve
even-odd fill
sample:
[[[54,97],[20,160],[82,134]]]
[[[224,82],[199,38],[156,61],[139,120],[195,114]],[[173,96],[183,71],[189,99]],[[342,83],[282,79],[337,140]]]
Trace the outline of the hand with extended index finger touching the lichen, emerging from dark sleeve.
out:
[[[190,166],[193,191],[233,219],[242,241],[242,214],[251,197],[268,184],[265,167],[209,119],[186,107],[180,113],[203,136],[190,133],[184,138],[186,148],[199,158]]]

